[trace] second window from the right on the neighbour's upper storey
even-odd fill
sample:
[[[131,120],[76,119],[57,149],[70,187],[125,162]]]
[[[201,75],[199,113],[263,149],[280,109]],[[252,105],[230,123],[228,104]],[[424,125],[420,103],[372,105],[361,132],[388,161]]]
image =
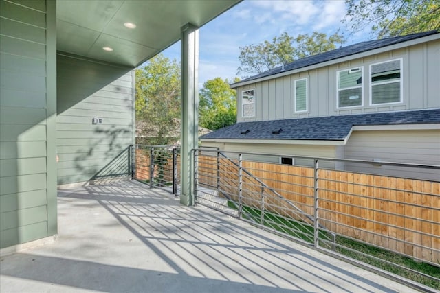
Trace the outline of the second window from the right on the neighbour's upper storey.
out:
[[[363,67],[338,71],[338,108],[362,106]]]

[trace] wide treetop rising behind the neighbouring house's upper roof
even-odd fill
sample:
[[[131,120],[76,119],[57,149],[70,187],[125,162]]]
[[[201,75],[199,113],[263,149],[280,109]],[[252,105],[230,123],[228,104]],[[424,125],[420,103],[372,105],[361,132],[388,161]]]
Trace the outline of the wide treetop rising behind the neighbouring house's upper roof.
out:
[[[344,43],[344,37],[338,32],[327,34],[299,34],[296,38],[287,32],[276,36],[272,42],[265,40],[258,45],[239,47],[240,66],[238,73],[263,73],[275,67],[293,62],[296,59],[320,54],[336,49],[336,44]]]

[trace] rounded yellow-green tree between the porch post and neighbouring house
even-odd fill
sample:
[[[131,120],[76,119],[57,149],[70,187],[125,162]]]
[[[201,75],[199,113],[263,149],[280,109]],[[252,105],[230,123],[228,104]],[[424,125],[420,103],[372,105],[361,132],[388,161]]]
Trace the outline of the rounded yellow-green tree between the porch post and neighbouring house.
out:
[[[199,125],[216,130],[235,123],[235,90],[230,88],[227,79],[207,80],[199,91]]]

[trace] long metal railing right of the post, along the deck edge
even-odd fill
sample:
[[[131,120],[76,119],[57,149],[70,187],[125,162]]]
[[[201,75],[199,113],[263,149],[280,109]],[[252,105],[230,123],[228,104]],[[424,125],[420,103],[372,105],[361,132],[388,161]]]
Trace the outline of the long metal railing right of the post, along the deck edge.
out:
[[[306,166],[262,163],[280,155],[194,150],[199,204],[345,259],[420,274],[400,255],[440,267],[440,166],[290,156]],[[283,156],[284,157],[284,156]],[[289,156],[287,156],[289,157]],[[362,168],[364,166],[365,168]],[[395,171],[393,171],[395,170]],[[414,174],[417,178],[396,174]],[[207,196],[208,195],[208,196]]]

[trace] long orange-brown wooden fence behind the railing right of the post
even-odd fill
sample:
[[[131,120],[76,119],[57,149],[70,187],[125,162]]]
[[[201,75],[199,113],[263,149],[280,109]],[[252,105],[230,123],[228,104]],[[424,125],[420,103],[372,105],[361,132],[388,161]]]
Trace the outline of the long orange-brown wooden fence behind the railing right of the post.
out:
[[[219,161],[217,169],[217,157],[199,156],[199,183],[212,187],[219,184],[236,200],[239,168],[229,159]],[[308,215],[314,215],[313,168],[251,161],[243,161],[243,168]],[[440,183],[318,169],[317,184],[322,226],[397,253],[440,263]],[[243,174],[243,198],[248,200],[244,204],[256,206],[259,189],[251,176]],[[276,197],[270,200],[266,209],[272,207],[272,211],[279,212],[281,207],[285,211],[285,201]]]

